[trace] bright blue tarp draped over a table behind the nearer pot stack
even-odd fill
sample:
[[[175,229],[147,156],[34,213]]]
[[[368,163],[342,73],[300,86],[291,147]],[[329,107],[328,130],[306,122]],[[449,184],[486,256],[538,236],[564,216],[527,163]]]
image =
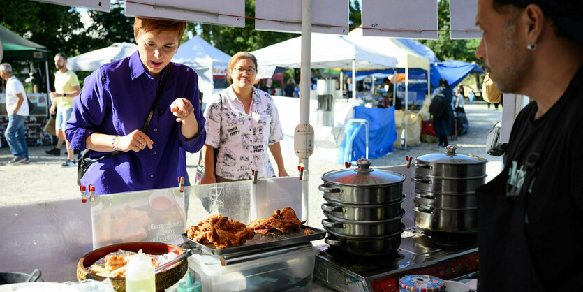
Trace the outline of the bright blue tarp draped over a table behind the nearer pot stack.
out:
[[[378,158],[394,150],[394,143],[397,140],[397,127],[394,124],[394,108],[366,108],[357,106],[354,110],[355,119],[366,119],[369,122],[369,159]],[[357,134],[353,132],[357,131]],[[364,126],[346,126],[346,136],[342,141],[337,155],[336,163],[345,162],[345,149],[350,152],[351,160],[365,158],[367,154],[366,133]],[[350,149],[351,136],[354,135],[352,147]],[[346,145],[348,144],[348,147]]]

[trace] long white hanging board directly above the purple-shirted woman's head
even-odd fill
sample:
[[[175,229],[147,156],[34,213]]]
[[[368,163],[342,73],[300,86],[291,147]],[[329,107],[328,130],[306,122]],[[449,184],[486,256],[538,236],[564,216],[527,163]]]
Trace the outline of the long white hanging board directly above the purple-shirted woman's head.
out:
[[[245,0],[140,0],[126,2],[126,16],[245,27]]]

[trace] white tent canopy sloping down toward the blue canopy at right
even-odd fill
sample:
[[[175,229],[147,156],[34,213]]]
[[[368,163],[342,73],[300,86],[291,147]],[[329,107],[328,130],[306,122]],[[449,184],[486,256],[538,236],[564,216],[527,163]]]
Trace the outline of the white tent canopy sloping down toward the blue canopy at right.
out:
[[[382,54],[397,58],[397,68],[420,68],[429,70],[429,59],[420,56],[396,38],[381,36],[362,36],[363,29],[353,29],[344,38],[349,41]]]

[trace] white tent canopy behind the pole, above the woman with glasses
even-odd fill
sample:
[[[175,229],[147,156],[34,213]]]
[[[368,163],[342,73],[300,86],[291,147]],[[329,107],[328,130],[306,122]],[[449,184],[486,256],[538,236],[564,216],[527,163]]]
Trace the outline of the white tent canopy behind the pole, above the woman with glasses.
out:
[[[280,66],[300,68],[302,52],[301,36],[251,52],[260,66]],[[353,69],[394,68],[397,59],[388,54],[363,48],[341,36],[331,34],[311,34],[311,68]]]

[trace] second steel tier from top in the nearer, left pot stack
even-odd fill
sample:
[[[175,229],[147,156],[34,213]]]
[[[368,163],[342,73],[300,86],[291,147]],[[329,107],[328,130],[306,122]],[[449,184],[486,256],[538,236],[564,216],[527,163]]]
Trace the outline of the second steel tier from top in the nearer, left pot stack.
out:
[[[403,194],[401,200],[385,205],[350,205],[328,201],[322,204],[322,210],[326,217],[353,221],[375,221],[391,219],[401,215],[401,203],[406,196]]]

